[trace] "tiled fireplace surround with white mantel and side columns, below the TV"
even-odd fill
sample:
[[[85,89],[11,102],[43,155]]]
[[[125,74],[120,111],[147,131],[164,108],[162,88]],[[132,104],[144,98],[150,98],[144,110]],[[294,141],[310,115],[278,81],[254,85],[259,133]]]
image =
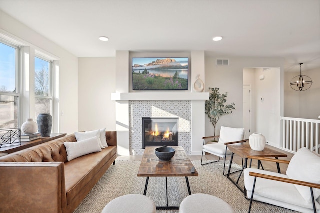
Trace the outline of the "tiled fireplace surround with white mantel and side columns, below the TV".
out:
[[[112,93],[119,155],[143,154],[142,117],[178,117],[179,146],[189,155],[200,155],[205,133],[204,100],[208,96],[204,92]]]

